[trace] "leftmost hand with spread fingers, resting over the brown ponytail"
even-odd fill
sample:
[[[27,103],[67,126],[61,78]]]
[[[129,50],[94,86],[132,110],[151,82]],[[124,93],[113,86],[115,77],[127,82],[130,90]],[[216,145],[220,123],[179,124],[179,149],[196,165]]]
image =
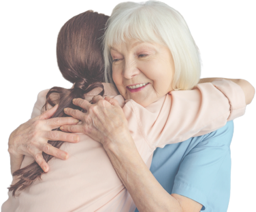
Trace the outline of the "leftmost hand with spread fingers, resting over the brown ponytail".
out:
[[[44,160],[42,152],[62,160],[68,158],[67,152],[52,147],[52,145],[48,143],[48,140],[77,143],[79,141],[78,135],[63,133],[57,130],[52,131],[52,129],[59,128],[66,124],[77,124],[79,121],[71,117],[50,119],[57,110],[57,107],[58,105],[55,105],[40,116],[20,124],[18,128],[12,131],[8,140],[8,152],[11,159],[12,173],[20,169],[24,155],[32,156],[35,162],[37,162],[45,172],[49,170],[49,166]],[[12,166],[15,166],[16,170],[12,171]]]

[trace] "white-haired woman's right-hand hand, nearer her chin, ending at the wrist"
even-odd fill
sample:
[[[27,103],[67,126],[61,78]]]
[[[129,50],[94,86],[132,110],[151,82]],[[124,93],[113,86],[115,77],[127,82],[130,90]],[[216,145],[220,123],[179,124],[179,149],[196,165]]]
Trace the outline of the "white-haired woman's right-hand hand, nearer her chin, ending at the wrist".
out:
[[[61,126],[61,130],[71,133],[84,133],[98,141],[106,149],[108,145],[117,145],[131,138],[123,109],[116,99],[106,96],[94,96],[91,104],[84,99],[74,99],[74,105],[86,110],[82,113],[77,109],[65,108],[64,112],[78,120],[77,125]]]

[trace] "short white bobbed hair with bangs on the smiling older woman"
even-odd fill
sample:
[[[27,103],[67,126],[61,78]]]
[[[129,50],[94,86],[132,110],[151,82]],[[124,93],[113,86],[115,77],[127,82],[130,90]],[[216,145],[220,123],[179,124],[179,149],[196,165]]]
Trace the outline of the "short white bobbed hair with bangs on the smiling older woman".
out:
[[[170,49],[174,59],[174,90],[190,90],[201,77],[203,62],[189,26],[178,10],[161,1],[118,3],[103,37],[105,81],[112,81],[110,48],[129,39],[156,42]],[[108,80],[109,79],[109,80]]]

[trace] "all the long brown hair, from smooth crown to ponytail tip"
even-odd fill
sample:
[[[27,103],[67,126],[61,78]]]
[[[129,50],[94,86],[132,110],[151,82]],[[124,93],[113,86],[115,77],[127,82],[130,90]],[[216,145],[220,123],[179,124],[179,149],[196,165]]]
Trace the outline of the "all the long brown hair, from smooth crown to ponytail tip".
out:
[[[47,104],[53,107],[59,103],[52,118],[67,116],[63,112],[65,107],[81,109],[73,105],[72,99],[84,99],[84,94],[97,87],[103,89],[101,82],[103,82],[104,63],[101,39],[99,38],[103,36],[108,18],[109,16],[106,14],[87,10],[69,18],[59,30],[56,44],[57,67],[63,78],[68,82],[75,82],[75,86],[71,89],[52,87],[49,90],[44,109]],[[103,93],[104,90],[99,94],[102,96]],[[56,94],[59,96],[57,100],[53,98],[54,96],[56,98]],[[48,141],[48,143],[59,148],[64,142]],[[46,162],[53,157],[44,152],[42,155]],[[43,173],[44,171],[37,162],[15,171],[14,176],[19,176],[19,180],[9,188],[12,191],[12,196],[18,196],[15,195],[17,190],[25,190],[33,181],[41,179]]]

